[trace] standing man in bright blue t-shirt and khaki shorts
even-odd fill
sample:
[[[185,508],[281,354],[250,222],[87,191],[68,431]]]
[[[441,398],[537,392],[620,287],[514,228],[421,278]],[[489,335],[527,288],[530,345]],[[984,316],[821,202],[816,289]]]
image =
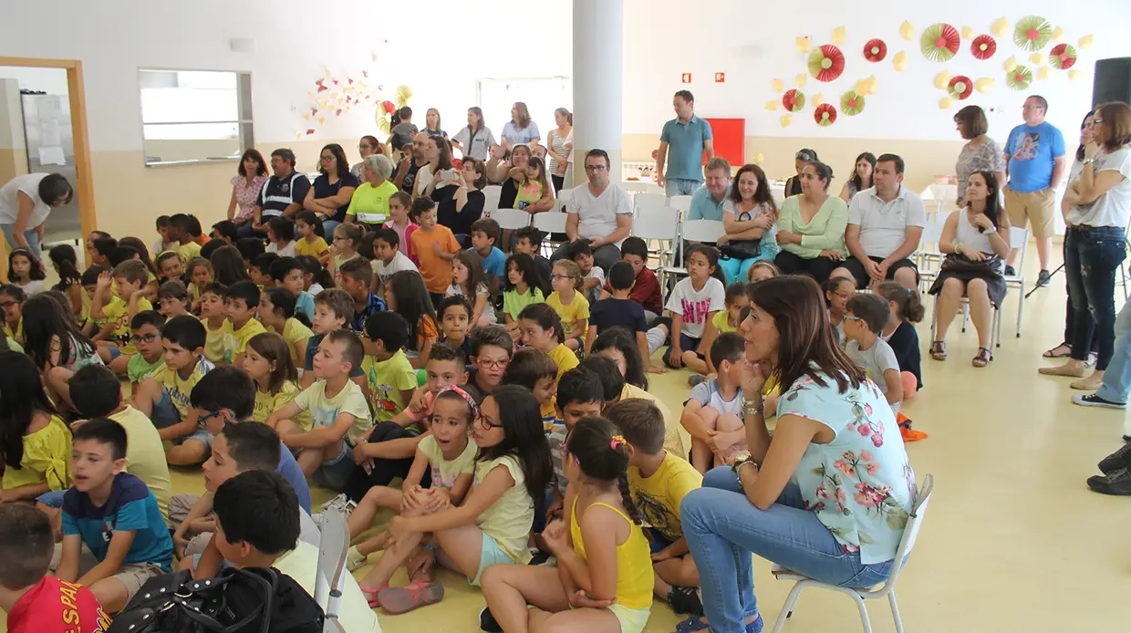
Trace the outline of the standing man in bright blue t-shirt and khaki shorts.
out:
[[[1003,187],[1009,223],[1026,228],[1033,225],[1041,259],[1037,286],[1048,285],[1048,255],[1053,250],[1053,214],[1056,209],[1056,185],[1064,175],[1064,137],[1045,122],[1048,102],[1039,95],[1025,99],[1021,114],[1025,124],[1013,128],[1005,142],[1005,172],[1009,184]],[[1015,275],[1013,259],[1018,249],[1009,252],[1005,275]]]

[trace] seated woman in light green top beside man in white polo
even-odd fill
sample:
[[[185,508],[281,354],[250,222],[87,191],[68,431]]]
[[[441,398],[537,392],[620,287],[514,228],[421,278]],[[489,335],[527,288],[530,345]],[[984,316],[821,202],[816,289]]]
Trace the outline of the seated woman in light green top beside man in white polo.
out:
[[[782,202],[777,223],[782,252],[774,263],[785,275],[804,272],[823,284],[832,269],[848,257],[845,246],[848,205],[829,196],[832,168],[824,163],[806,163],[800,179],[801,194]]]

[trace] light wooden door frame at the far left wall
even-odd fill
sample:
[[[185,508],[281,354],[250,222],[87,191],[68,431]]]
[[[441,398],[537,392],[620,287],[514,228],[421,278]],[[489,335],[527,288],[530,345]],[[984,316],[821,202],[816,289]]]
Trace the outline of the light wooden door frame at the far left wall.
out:
[[[0,66],[27,68],[61,68],[67,71],[67,97],[71,111],[71,136],[75,144],[75,183],[78,196],[78,217],[83,240],[97,226],[94,208],[94,175],[90,173],[90,136],[86,119],[86,89],[83,84],[83,62],[79,60],[6,58],[0,57]],[[0,269],[8,267],[8,244],[0,240]],[[87,260],[89,253],[87,253]]]

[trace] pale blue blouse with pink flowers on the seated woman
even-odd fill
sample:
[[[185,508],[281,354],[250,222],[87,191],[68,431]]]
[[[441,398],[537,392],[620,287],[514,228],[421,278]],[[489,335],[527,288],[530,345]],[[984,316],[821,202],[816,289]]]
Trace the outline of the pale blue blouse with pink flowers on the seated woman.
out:
[[[896,556],[912,509],[915,472],[907,461],[895,414],[871,380],[840,393],[826,375],[808,375],[778,404],[778,416],[819,422],[836,433],[828,444],[809,444],[793,475],[805,508],[845,552],[865,565]]]

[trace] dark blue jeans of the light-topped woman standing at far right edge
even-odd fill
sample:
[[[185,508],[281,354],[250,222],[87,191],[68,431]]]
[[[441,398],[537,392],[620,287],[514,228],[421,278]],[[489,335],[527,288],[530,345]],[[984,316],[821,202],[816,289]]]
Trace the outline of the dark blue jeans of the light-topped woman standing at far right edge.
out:
[[[1064,235],[1064,277],[1072,302],[1072,358],[1086,361],[1093,336],[1096,370],[1104,371],[1115,349],[1115,271],[1126,258],[1124,229],[1114,226]]]

